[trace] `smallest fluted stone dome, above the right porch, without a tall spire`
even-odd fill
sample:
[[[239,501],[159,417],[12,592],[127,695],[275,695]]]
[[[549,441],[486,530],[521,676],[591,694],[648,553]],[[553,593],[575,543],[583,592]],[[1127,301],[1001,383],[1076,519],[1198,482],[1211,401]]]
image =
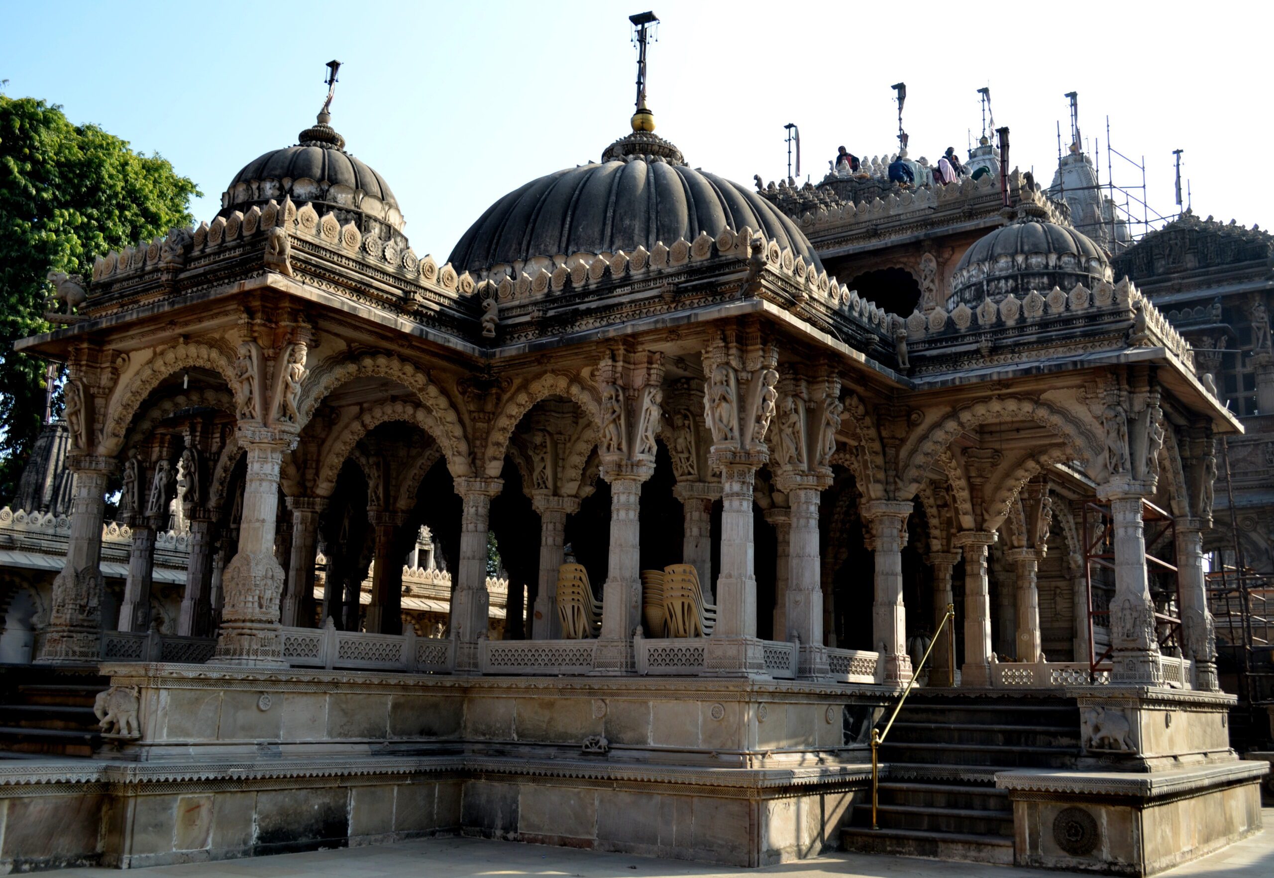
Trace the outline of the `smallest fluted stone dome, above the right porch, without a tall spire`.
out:
[[[1036,205],[1019,208],[1018,218],[973,242],[952,273],[952,305],[976,308],[982,299],[1018,298],[1032,289],[1070,291],[1111,279],[1106,252],[1065,226],[1050,223]]]

